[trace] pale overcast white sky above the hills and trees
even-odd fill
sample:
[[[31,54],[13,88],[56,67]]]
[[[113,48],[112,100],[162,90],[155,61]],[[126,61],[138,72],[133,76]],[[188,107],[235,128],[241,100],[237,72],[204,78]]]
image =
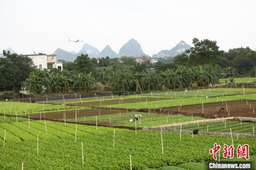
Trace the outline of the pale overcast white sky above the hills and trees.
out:
[[[0,49],[51,54],[88,43],[118,53],[134,38],[153,55],[181,40],[192,46],[197,37],[224,51],[255,50],[255,6],[255,0],[0,0]]]

